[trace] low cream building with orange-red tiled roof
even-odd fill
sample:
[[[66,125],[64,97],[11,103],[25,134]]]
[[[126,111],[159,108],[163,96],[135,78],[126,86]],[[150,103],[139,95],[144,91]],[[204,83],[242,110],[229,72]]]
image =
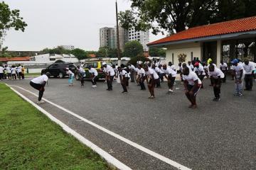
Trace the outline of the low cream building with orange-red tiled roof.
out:
[[[178,56],[186,55],[186,62],[208,58],[220,64],[233,58],[256,60],[256,16],[213,23],[183,30],[169,37],[150,42],[149,47],[166,47],[166,60],[178,65]]]

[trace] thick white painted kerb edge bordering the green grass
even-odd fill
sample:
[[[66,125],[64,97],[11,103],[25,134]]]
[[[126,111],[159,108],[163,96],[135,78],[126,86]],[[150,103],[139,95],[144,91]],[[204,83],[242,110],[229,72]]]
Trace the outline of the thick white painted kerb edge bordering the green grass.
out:
[[[8,84],[6,84],[7,86],[9,86]],[[11,90],[13,90],[16,94],[18,94],[18,96],[21,96],[21,98],[23,98],[24,100],[28,101],[28,103],[31,103],[32,106],[34,106],[35,108],[38,109],[38,111],[41,111],[43,114],[45,114],[48,118],[50,118],[50,120],[52,120],[53,122],[57,123],[58,125],[60,125],[61,128],[63,128],[63,130],[65,130],[65,132],[70,133],[71,135],[73,135],[73,137],[75,137],[76,139],[78,139],[80,142],[82,142],[84,145],[87,145],[87,147],[90,147],[93,151],[97,152],[97,154],[100,154],[100,157],[102,157],[103,159],[105,159],[109,164],[111,164],[112,166],[115,166],[117,169],[121,169],[121,170],[132,170],[130,169],[128,166],[126,166],[125,164],[123,164],[122,162],[119,162],[119,160],[115,159],[114,157],[112,157],[110,154],[108,154],[107,152],[105,152],[103,149],[101,149],[100,147],[98,147],[97,145],[93,144],[92,142],[90,142],[89,140],[87,140],[85,137],[83,137],[82,135],[80,135],[78,132],[75,132],[75,130],[71,129],[70,127],[68,127],[68,125],[65,125],[65,123],[61,122],[60,120],[58,120],[57,118],[55,118],[53,115],[50,115],[50,113],[48,113],[46,110],[44,110],[43,108],[39,107],[36,103],[33,103],[33,101],[31,101],[30,99],[26,98],[26,96],[23,96],[23,94],[19,93],[18,91],[16,91],[15,89],[11,88],[11,86],[9,86]]]

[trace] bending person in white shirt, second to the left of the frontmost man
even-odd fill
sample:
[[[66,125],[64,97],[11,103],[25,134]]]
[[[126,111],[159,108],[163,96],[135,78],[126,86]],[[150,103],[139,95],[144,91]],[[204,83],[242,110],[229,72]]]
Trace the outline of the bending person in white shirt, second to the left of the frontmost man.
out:
[[[154,87],[156,86],[156,82],[159,79],[159,75],[156,73],[156,71],[154,71],[154,69],[151,69],[148,66],[145,67],[145,73],[146,73],[146,83],[148,84],[149,93],[150,93],[149,98],[155,98]]]

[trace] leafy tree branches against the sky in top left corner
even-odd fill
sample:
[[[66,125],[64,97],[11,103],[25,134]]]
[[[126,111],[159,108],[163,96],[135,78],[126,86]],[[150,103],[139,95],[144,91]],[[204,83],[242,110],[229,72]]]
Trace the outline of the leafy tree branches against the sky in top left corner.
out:
[[[18,9],[11,10],[8,4],[5,4],[4,1],[0,2],[0,49],[4,42],[7,30],[14,28],[14,30],[21,30],[24,32],[26,26],[28,26],[23,21],[19,12]]]

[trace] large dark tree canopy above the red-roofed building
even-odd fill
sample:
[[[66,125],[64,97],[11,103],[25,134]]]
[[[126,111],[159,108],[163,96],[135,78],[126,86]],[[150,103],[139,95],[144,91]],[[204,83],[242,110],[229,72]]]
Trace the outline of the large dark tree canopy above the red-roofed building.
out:
[[[119,12],[123,28],[162,30],[170,34],[187,27],[228,21],[256,15],[256,1],[252,0],[131,0],[132,9]]]

